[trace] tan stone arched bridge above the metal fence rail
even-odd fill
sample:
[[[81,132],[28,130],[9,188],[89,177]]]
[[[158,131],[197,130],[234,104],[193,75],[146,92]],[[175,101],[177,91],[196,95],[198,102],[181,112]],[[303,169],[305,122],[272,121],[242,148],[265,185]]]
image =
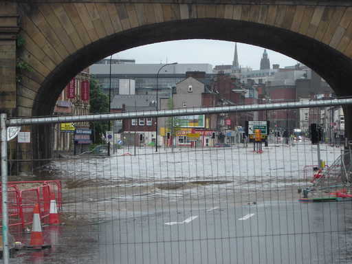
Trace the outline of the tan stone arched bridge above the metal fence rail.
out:
[[[115,52],[179,39],[281,52],[351,96],[352,1],[27,0],[0,3],[0,111],[51,115],[62,89]],[[352,107],[344,108],[352,139]]]

